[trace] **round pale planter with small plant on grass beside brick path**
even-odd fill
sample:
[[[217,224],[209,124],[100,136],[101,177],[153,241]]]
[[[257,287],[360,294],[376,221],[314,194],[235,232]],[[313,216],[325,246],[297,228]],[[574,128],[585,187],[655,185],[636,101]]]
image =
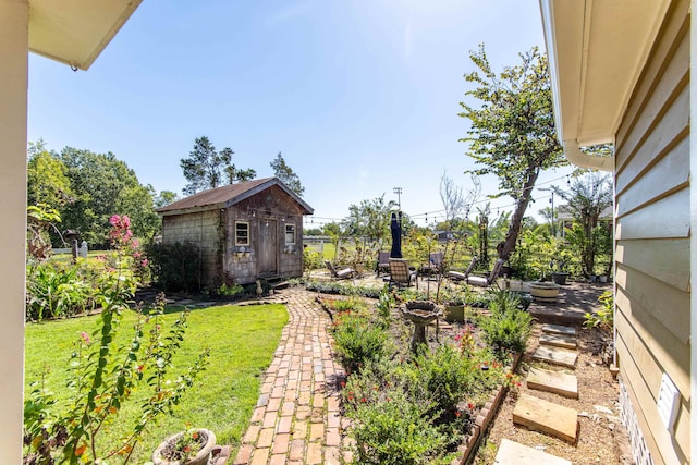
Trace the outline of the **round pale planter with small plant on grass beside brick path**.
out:
[[[167,438],[152,453],[154,465],[206,465],[216,446],[216,435],[192,428]]]

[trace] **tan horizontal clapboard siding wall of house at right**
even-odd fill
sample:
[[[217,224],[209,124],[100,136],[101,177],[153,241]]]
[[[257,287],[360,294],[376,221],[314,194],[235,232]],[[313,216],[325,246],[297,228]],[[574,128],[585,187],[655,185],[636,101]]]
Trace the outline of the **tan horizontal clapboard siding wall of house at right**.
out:
[[[615,140],[616,351],[656,464],[690,456],[688,7],[671,7]],[[682,396],[674,437],[657,408],[663,372]]]

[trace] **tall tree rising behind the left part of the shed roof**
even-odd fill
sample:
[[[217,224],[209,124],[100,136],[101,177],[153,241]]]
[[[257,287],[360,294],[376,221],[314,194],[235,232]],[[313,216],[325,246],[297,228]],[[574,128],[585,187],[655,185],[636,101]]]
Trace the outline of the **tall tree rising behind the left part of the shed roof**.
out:
[[[185,195],[196,194],[207,188],[216,188],[234,182],[248,181],[256,176],[253,169],[239,170],[232,163],[234,151],[225,147],[216,151],[216,147],[206,136],[194,140],[194,149],[188,158],[180,160],[180,167],[188,184],[183,189]]]

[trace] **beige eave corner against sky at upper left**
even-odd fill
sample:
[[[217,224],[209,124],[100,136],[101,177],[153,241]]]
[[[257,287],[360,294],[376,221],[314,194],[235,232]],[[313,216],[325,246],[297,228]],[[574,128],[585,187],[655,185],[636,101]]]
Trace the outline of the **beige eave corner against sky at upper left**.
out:
[[[29,0],[29,50],[87,70],[142,0]]]

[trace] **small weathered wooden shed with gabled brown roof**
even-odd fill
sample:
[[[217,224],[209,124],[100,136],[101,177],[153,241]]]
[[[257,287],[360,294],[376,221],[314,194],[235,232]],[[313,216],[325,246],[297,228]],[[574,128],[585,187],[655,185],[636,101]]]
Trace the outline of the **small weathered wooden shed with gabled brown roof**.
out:
[[[303,274],[303,215],[314,210],[278,178],[199,192],[157,211],[163,244],[198,246],[204,285]]]

